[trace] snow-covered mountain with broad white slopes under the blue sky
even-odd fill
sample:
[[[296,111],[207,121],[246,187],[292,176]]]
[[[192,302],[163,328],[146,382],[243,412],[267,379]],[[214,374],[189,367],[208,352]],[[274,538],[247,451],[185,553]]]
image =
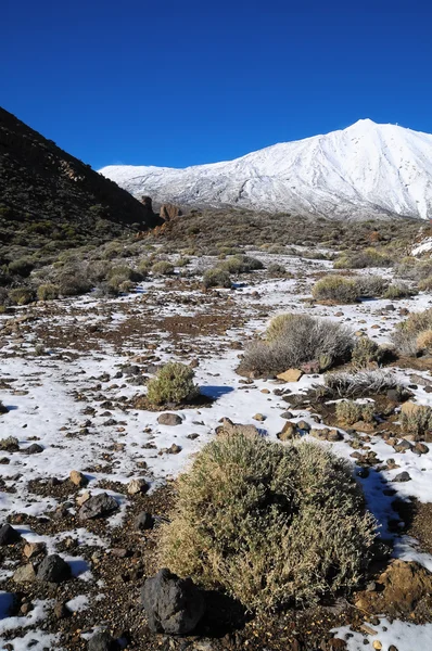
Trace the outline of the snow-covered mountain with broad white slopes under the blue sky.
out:
[[[136,196],[183,206],[432,217],[432,136],[370,119],[225,163],[186,169],[110,165],[100,173]]]

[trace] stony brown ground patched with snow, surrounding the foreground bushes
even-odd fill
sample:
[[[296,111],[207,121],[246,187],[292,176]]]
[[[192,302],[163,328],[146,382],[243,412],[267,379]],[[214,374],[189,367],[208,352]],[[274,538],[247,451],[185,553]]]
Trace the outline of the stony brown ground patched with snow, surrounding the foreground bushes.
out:
[[[20,534],[15,540],[0,529],[2,649],[86,649],[99,629],[142,651],[432,646],[432,443],[402,437],[391,394],[369,396],[381,400],[380,423],[347,427],[334,408],[310,398],[320,375],[283,382],[236,373],[247,341],[276,314],[334,319],[382,343],[432,298],[318,305],[310,286],[330,261],[253,255],[291,275],[255,271],[232,290],[207,292],[199,277],[154,280],[118,298],[90,294],[0,317],[0,398],[8,409],[0,414],[0,511],[1,523]],[[373,272],[390,275],[364,271]],[[149,409],[147,381],[167,360],[194,368],[202,393],[195,405]],[[389,372],[409,390],[410,403],[432,405],[431,368],[429,359],[402,360]],[[153,634],[140,590],[158,570],[158,525],[175,506],[176,476],[223,418],[254,424],[271,439],[312,436],[350,459],[381,525],[382,558],[351,602],[266,620],[212,595],[194,636]]]

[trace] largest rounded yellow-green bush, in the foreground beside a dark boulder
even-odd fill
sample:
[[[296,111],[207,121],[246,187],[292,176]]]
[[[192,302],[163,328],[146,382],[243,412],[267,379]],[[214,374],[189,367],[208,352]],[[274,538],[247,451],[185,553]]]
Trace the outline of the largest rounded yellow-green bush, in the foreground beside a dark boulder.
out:
[[[206,445],[180,477],[161,562],[269,610],[354,588],[374,535],[346,461],[316,444],[234,433]]]

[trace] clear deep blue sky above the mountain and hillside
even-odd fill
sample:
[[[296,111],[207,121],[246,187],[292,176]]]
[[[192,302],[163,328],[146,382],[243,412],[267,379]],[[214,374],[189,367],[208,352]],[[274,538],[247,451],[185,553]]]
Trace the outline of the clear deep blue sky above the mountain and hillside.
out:
[[[2,0],[0,104],[94,168],[432,132],[428,0]]]

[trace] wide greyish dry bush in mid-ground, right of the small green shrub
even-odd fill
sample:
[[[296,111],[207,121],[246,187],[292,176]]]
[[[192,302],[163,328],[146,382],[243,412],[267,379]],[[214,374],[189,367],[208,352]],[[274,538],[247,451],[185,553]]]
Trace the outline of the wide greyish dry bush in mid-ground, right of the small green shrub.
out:
[[[268,341],[246,349],[240,372],[277,374],[307,362],[316,362],[323,371],[348,360],[354,346],[350,329],[307,315],[276,317],[266,336]]]

